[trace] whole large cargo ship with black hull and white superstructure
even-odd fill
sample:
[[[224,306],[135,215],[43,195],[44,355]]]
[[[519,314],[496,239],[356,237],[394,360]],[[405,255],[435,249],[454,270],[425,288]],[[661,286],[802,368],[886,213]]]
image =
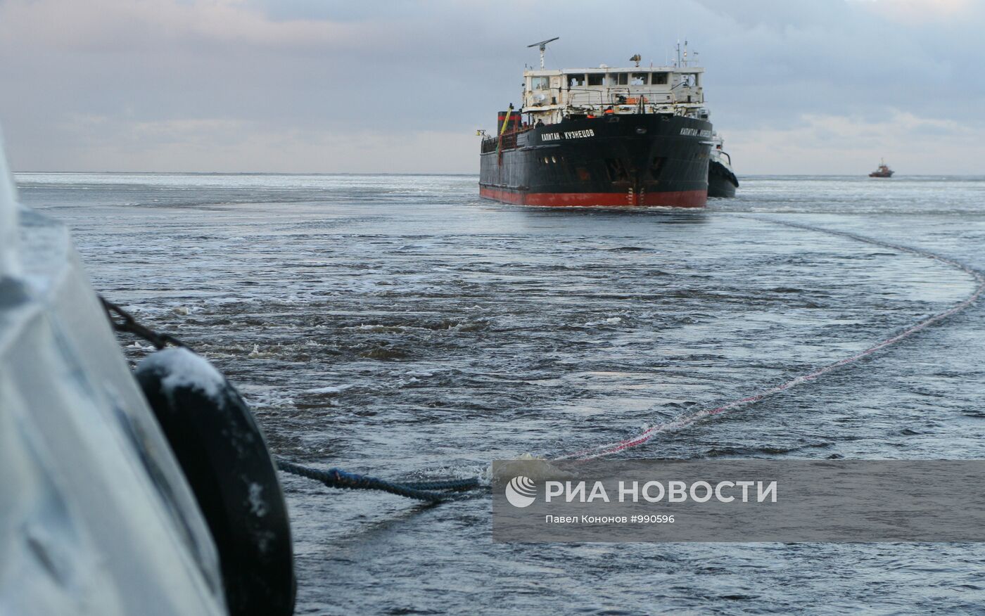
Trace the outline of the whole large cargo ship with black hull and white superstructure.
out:
[[[701,208],[712,126],[704,69],[687,41],[670,66],[523,73],[522,105],[500,111],[481,148],[483,197],[528,206]],[[480,131],[483,133],[483,131]]]

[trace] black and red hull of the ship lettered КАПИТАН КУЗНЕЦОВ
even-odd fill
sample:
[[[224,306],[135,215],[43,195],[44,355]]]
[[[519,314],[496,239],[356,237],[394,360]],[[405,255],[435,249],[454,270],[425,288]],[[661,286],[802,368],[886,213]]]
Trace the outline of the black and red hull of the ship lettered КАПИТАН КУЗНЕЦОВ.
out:
[[[700,208],[711,123],[670,114],[568,119],[483,142],[480,194],[529,206]]]

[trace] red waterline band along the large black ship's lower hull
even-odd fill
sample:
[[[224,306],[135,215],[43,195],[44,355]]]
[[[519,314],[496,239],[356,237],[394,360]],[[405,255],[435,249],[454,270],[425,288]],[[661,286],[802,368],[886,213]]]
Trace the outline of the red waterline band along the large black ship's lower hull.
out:
[[[556,208],[625,208],[651,206],[665,208],[703,208],[708,202],[705,190],[668,193],[529,193],[527,191],[481,186],[479,195],[518,206],[549,206]]]

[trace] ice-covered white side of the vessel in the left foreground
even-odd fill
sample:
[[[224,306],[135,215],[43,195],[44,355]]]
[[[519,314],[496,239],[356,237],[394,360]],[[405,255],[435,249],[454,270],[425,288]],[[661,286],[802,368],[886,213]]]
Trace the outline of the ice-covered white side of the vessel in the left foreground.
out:
[[[208,528],[68,231],[0,153],[0,614],[225,614]]]

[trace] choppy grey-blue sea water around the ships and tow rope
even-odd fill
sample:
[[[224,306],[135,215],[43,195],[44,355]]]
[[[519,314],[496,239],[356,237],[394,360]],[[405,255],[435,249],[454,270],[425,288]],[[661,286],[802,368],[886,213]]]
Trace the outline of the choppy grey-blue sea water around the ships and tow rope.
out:
[[[985,178],[755,177],[700,212],[544,210],[477,178],[20,174],[94,285],[213,360],[276,453],[470,476],[755,394],[974,288]],[[137,360],[146,351],[127,348]],[[631,458],[985,458],[985,307]],[[502,544],[295,477],[300,614],[977,612],[976,544]]]

